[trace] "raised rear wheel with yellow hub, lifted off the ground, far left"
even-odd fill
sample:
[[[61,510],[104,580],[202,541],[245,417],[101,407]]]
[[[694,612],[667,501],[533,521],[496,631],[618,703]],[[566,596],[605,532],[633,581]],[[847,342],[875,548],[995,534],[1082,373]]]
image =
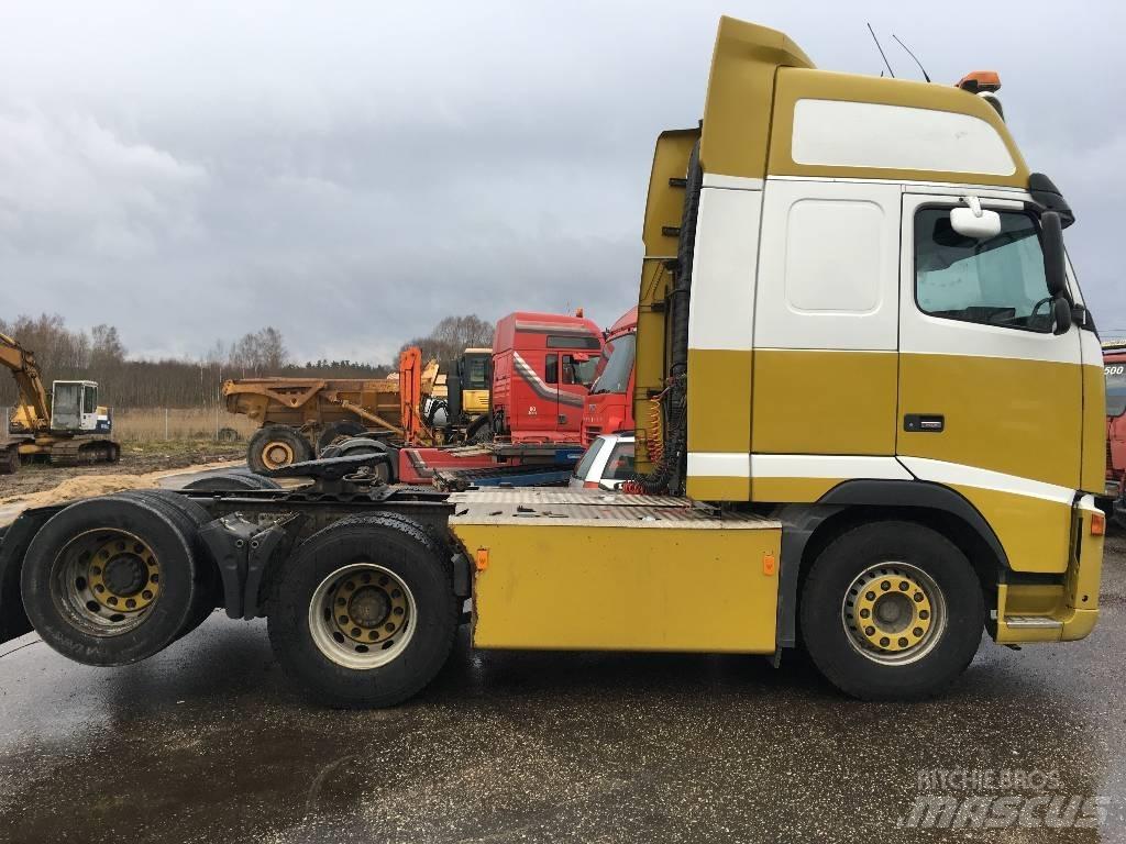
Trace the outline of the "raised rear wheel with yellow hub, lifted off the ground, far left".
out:
[[[27,549],[27,616],[52,648],[87,665],[126,665],[182,635],[198,607],[193,538],[170,508],[88,499],[52,517]]]

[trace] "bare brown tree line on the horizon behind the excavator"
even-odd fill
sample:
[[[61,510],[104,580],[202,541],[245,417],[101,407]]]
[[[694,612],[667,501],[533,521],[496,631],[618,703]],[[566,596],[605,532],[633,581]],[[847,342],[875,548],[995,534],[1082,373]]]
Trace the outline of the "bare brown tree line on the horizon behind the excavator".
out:
[[[232,378],[384,378],[394,362],[355,360],[294,361],[282,332],[272,326],[248,332],[238,340],[215,344],[199,358],[131,358],[113,325],[89,331],[68,327],[59,314],[0,320],[8,334],[35,354],[44,385],[53,380],[93,380],[102,404],[114,407],[203,407],[222,401],[222,385]],[[477,316],[449,316],[427,336],[405,345],[420,345],[425,359],[449,362],[461,349],[492,344],[492,325]],[[0,406],[16,403],[16,383],[0,371]]]

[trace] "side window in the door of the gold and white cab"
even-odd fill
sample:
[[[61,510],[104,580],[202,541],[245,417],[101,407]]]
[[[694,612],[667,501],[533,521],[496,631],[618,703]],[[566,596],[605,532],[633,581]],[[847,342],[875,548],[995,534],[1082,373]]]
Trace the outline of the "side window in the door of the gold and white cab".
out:
[[[1001,233],[978,241],[955,232],[949,215],[949,207],[915,213],[919,309],[947,320],[1052,331],[1052,299],[1033,217],[1000,212]]]

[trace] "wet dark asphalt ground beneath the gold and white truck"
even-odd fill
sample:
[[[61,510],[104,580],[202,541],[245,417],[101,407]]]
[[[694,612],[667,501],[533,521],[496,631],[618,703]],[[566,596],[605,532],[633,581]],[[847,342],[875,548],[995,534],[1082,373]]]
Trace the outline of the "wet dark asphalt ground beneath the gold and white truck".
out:
[[[801,656],[474,653],[463,635],[414,701],[339,712],[292,692],[262,622],[216,613],[115,670],[32,634],[0,646],[0,841],[1126,841],[1124,604],[1112,538],[1089,639],[986,637],[917,704],[844,699]],[[1015,771],[1031,788],[998,790]],[[1106,820],[911,827],[920,794],[1036,788],[1101,798]]]

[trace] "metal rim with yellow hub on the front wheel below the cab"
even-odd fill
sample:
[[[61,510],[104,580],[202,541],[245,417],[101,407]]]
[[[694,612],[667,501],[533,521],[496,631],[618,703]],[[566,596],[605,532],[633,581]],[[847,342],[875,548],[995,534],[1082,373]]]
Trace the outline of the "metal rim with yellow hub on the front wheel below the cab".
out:
[[[846,594],[844,626],[861,652],[877,661],[913,657],[935,631],[935,582],[913,566],[884,564],[863,572]]]

